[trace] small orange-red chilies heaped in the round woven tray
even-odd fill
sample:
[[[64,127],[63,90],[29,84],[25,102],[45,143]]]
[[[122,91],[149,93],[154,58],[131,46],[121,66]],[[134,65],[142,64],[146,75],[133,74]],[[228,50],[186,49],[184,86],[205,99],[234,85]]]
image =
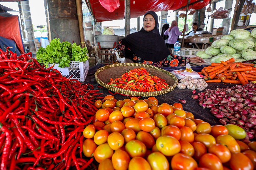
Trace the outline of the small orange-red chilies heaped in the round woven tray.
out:
[[[145,68],[136,68],[125,72],[121,77],[110,79],[111,86],[132,91],[159,91],[170,86],[164,79],[151,75]]]

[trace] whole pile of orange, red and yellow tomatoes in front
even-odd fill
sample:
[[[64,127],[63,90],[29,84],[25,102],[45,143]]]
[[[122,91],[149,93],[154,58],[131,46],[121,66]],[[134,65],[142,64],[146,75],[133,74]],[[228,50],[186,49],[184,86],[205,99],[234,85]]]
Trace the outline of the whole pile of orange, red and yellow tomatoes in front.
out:
[[[99,110],[83,135],[83,153],[98,170],[252,170],[256,142],[245,143],[238,126],[195,119],[181,103],[155,97],[95,102]],[[235,133],[236,132],[236,133]]]

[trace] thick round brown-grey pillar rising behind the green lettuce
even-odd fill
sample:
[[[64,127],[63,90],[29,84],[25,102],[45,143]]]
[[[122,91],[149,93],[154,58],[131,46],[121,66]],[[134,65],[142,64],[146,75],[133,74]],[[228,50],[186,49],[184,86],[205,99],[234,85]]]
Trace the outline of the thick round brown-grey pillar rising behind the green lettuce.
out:
[[[51,28],[51,40],[60,38],[60,42],[81,45],[76,1],[47,0]]]

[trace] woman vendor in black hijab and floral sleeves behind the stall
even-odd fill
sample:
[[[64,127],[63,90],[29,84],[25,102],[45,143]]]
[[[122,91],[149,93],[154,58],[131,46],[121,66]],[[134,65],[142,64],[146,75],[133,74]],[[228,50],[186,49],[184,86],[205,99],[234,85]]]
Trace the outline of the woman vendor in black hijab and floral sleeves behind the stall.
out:
[[[154,11],[146,12],[142,29],[119,41],[117,48],[124,51],[125,58],[156,67],[186,66],[189,61],[204,62],[200,57],[188,58],[171,54],[159,34],[157,18]]]

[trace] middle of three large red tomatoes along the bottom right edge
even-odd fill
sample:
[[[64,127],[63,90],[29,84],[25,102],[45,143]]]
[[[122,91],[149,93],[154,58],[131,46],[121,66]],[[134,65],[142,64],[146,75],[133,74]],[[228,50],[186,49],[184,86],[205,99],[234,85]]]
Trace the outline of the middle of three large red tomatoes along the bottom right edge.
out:
[[[215,154],[206,153],[199,159],[199,166],[214,170],[223,170],[223,165]]]

